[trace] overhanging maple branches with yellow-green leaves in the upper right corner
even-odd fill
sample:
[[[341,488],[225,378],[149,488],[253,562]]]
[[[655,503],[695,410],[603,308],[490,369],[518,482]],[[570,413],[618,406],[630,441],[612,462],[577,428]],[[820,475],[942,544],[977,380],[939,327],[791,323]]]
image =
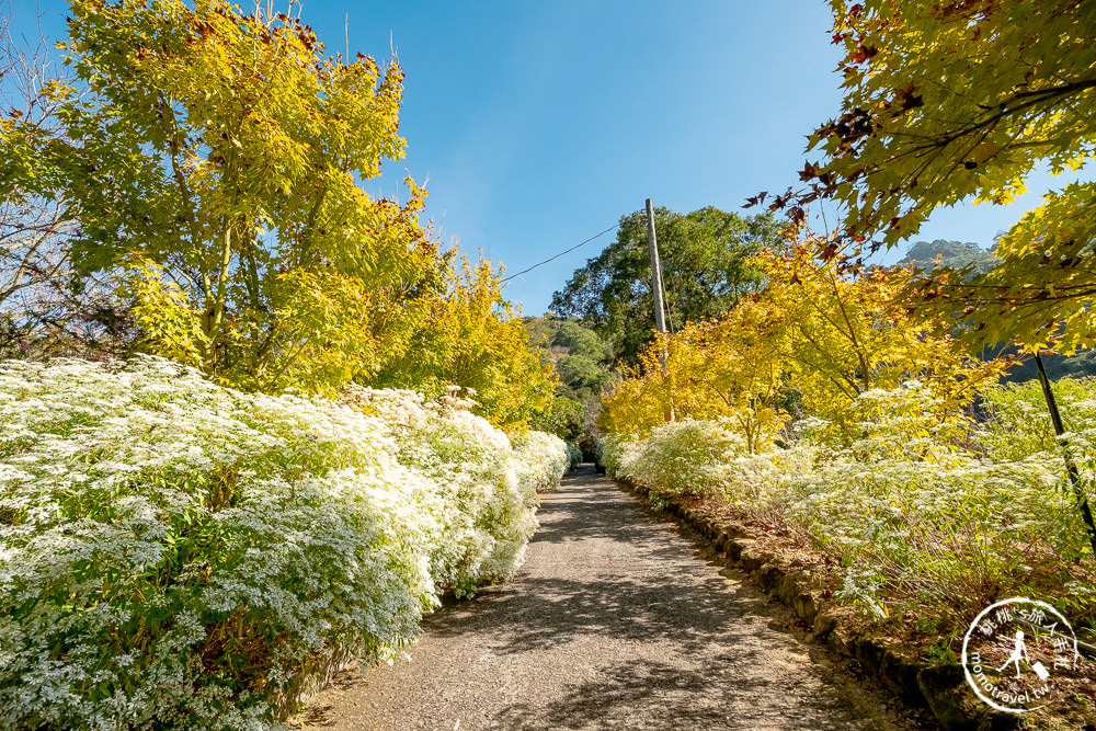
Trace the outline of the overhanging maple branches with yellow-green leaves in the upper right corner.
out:
[[[809,186],[774,204],[792,220],[831,198],[846,212],[845,235],[891,247],[941,206],[1011,203],[1037,165],[1060,173],[1092,160],[1093,0],[831,4],[845,96],[811,135],[824,159],[801,173]],[[1092,182],[1047,193],[998,239],[991,271],[941,267],[909,294],[959,312],[980,344],[1096,344],[1094,194]]]

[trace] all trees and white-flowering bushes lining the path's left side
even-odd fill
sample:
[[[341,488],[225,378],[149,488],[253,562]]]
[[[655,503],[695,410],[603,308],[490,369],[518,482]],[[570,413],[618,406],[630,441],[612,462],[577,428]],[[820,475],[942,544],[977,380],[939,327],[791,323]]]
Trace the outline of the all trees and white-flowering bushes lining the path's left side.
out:
[[[363,186],[399,65],[262,8],[2,21],[0,728],[283,728],[513,575],[573,458],[500,269]]]

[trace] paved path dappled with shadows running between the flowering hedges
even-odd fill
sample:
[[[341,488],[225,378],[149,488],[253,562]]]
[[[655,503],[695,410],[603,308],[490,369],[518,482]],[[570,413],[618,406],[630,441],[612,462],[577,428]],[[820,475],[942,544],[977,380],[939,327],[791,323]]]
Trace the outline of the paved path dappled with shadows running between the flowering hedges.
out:
[[[343,673],[308,729],[888,729],[777,612],[586,466],[517,578],[429,617],[412,661]]]

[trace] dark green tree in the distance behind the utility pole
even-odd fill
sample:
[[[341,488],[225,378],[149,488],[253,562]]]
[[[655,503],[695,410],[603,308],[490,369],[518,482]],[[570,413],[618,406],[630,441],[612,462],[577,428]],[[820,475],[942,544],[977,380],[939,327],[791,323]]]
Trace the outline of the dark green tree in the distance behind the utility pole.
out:
[[[742,218],[715,207],[654,213],[663,286],[674,327],[728,311],[762,283],[746,260],[783,249],[780,224],[764,214]],[[617,239],[571,276],[552,297],[552,310],[590,323],[609,342],[615,359],[638,363],[652,341],[654,305],[647,214],[620,218]]]

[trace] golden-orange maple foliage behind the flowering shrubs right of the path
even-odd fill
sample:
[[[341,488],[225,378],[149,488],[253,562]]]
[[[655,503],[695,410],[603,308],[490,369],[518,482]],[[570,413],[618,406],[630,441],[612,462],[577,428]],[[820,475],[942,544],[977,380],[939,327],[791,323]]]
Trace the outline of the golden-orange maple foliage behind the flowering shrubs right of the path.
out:
[[[802,411],[844,423],[860,393],[916,378],[944,413],[1002,373],[1003,362],[970,357],[959,340],[894,305],[907,271],[852,276],[811,251],[758,254],[751,263],[767,276],[764,292],[722,319],[660,336],[605,400],[605,427],[647,433],[671,418],[727,418],[754,452]]]

